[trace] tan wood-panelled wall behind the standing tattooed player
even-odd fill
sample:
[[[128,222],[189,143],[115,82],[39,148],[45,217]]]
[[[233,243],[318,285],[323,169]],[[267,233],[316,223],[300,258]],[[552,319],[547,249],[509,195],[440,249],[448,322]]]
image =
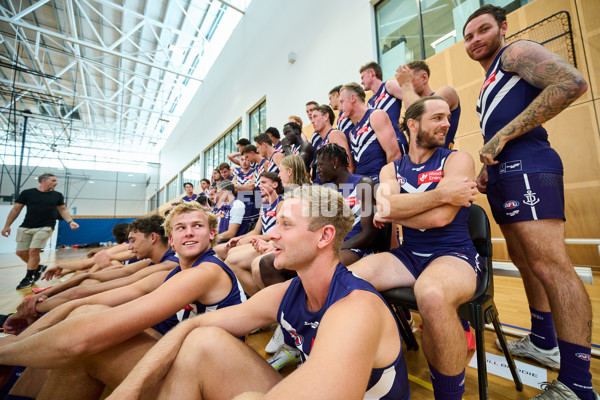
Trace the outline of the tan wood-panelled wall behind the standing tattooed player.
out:
[[[507,36],[552,14],[566,10],[571,16],[577,68],[589,89],[567,110],[545,124],[552,147],[560,154],[565,169],[566,237],[600,239],[600,2],[590,0],[536,0],[508,15]],[[468,58],[461,41],[430,57],[431,87],[450,85],[460,96],[462,114],[456,148],[467,151],[481,169],[478,150],[483,144],[475,105],[484,71]],[[535,156],[535,155],[532,155]],[[491,216],[485,196],[477,203]],[[492,236],[501,238],[492,222]],[[598,245],[568,245],[575,265],[600,267]],[[504,244],[494,245],[494,259],[508,260]]]

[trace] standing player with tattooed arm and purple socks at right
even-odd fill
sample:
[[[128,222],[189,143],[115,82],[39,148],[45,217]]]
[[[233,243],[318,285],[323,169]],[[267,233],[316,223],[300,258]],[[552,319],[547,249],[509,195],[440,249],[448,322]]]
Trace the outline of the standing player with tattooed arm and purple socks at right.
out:
[[[475,11],[463,29],[467,54],[486,71],[477,101],[485,140],[477,185],[487,192],[531,309],[531,335],[509,343],[509,350],[560,366],[557,380],[536,398],[598,399],[590,373],[592,308],[564,242],[562,162],[541,126],[587,83],[537,43],[506,45],[506,31],[504,9],[491,5]]]

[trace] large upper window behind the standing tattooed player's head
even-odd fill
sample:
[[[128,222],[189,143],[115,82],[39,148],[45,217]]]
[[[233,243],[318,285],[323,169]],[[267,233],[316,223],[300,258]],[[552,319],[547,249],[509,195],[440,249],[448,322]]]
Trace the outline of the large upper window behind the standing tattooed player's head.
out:
[[[507,13],[532,0],[383,0],[375,6],[377,54],[384,80],[399,65],[424,60],[462,40],[469,15],[483,4]]]

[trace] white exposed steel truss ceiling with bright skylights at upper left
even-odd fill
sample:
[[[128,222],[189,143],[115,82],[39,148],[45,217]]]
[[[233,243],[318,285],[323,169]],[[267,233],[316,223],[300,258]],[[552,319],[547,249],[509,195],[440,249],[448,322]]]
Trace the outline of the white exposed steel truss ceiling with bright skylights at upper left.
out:
[[[249,3],[0,0],[0,161],[156,161]]]

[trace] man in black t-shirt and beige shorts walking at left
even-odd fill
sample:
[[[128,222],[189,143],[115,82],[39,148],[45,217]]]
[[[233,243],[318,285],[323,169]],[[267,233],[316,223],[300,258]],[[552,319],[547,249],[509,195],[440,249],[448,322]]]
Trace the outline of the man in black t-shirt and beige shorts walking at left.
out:
[[[10,225],[17,219],[24,206],[27,206],[27,214],[23,223],[17,230],[17,255],[27,263],[27,275],[19,283],[17,289],[32,286],[43,272],[40,263],[40,250],[46,246],[46,242],[52,236],[54,224],[56,223],[56,210],[69,223],[71,229],[79,228],[73,221],[65,206],[65,200],[61,193],[55,192],[58,184],[56,176],[42,174],[38,177],[40,186],[35,189],[23,190],[14,207],[8,213],[6,224],[2,229],[2,236],[10,235]]]

